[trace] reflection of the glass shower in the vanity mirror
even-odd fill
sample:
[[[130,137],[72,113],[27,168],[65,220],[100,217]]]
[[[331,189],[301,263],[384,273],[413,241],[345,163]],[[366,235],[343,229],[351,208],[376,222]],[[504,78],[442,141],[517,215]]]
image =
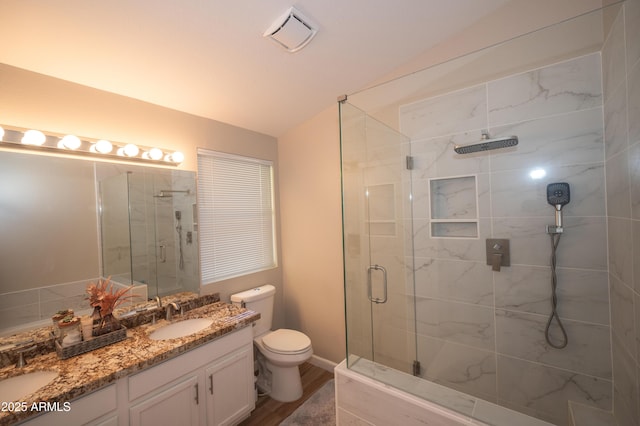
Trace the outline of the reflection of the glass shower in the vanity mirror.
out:
[[[97,164],[103,275],[146,285],[149,298],[197,292],[195,173],[107,166]]]

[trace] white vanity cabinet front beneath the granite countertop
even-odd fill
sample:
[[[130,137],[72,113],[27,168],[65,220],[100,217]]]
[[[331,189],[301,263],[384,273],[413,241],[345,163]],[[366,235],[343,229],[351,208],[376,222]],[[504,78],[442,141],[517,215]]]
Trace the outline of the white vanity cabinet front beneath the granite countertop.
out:
[[[77,398],[28,426],[234,425],[255,408],[251,326]]]

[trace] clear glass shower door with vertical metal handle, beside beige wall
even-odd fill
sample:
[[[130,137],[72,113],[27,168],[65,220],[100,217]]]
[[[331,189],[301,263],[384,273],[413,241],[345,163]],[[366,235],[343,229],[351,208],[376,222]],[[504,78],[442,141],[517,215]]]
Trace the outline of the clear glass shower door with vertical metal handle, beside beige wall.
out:
[[[347,362],[416,359],[407,137],[340,103]]]

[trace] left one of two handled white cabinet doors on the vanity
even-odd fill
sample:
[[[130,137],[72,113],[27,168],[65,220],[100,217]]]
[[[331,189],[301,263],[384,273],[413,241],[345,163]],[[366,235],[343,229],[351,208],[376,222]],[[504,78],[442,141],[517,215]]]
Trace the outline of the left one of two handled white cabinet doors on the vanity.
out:
[[[188,376],[132,406],[129,410],[129,424],[195,426],[199,422],[199,391],[198,376]]]

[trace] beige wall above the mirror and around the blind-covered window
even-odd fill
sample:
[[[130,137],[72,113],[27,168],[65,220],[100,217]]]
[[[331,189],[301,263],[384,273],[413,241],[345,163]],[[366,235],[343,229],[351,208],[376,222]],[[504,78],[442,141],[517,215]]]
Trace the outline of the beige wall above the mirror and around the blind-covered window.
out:
[[[180,150],[186,157],[179,166],[183,170],[196,170],[198,147],[272,160],[278,202],[277,141],[215,120],[0,64],[0,124]],[[203,292],[219,292],[228,300],[234,292],[265,283],[278,289],[274,323],[282,327],[280,267],[207,285]]]

